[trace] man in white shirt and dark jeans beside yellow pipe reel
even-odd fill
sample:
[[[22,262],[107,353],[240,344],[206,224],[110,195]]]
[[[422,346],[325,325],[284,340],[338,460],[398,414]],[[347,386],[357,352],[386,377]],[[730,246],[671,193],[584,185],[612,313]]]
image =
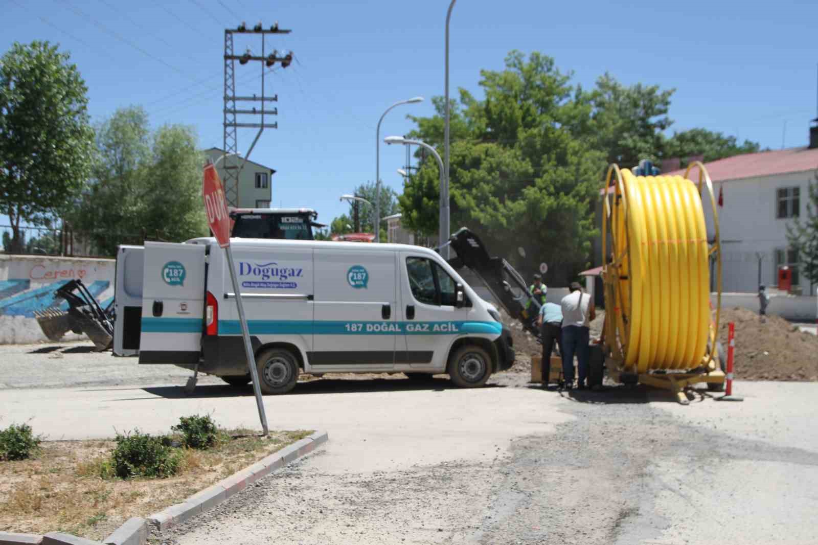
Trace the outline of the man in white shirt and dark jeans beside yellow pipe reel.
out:
[[[591,320],[596,318],[596,307],[591,295],[582,291],[579,282],[571,282],[569,295],[560,301],[563,313],[562,346],[563,377],[565,389],[573,387],[573,356],[577,355],[579,377],[577,387],[583,390],[588,378],[588,363],[591,350],[588,342],[591,337]]]

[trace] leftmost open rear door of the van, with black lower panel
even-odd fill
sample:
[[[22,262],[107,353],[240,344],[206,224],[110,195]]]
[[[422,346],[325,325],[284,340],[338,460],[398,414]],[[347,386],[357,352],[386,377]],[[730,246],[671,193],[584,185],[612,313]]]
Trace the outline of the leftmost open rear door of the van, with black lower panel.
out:
[[[114,354],[139,354],[142,331],[142,279],[145,276],[145,247],[121,245],[116,252],[114,289]]]

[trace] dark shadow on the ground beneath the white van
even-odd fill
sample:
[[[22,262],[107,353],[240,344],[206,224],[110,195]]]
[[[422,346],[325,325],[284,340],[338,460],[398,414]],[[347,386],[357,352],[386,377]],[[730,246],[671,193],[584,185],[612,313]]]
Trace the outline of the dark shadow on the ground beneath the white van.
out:
[[[483,388],[505,388],[503,385],[485,385]],[[182,398],[225,398],[253,395],[253,386],[230,386],[230,385],[201,385],[196,386],[196,391],[188,395],[184,388],[180,386],[148,386],[142,388],[148,394],[158,395],[166,399]],[[443,390],[459,390],[452,382],[443,378],[434,378],[425,381],[413,381],[410,379],[317,379],[315,381],[299,382],[295,388],[286,395],[309,395],[309,394],[343,394],[343,393],[367,393],[367,392],[401,392],[412,390],[425,390],[442,392]],[[135,398],[151,399],[151,398]],[[125,401],[121,399],[119,401]]]

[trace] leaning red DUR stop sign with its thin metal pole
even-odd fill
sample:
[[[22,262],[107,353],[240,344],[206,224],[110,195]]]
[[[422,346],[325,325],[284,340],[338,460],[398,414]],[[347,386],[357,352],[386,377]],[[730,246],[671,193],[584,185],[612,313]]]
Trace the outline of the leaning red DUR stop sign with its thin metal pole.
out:
[[[261,384],[258,382],[258,369],[255,366],[253,357],[253,345],[250,343],[250,331],[247,327],[244,305],[241,304],[241,291],[239,281],[236,279],[236,268],[233,266],[233,251],[230,247],[230,214],[227,211],[227,199],[224,196],[222,180],[218,178],[216,167],[213,163],[205,165],[205,177],[202,182],[202,198],[205,200],[205,213],[207,223],[220,248],[227,254],[227,268],[230,269],[230,280],[233,283],[233,293],[236,295],[236,309],[239,311],[239,322],[241,324],[241,337],[245,341],[245,355],[247,356],[247,368],[253,378],[253,393],[255,394],[256,405],[258,406],[258,419],[261,420],[261,428],[267,436],[270,430],[267,429],[267,415],[264,413],[264,403],[261,397]]]

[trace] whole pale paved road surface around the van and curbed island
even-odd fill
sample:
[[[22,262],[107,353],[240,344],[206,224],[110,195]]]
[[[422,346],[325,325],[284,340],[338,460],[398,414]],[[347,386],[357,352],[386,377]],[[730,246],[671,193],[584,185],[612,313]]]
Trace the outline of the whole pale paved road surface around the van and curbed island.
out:
[[[0,426],[29,421],[48,439],[109,437],[137,426],[164,432],[180,416],[210,412],[222,426],[258,427],[249,388],[213,383],[188,397],[181,369],[174,385],[129,386],[128,373],[147,380],[146,366],[117,361],[120,385],[0,390]],[[156,538],[818,543],[818,384],[735,390],[744,403],[702,394],[683,407],[642,387],[542,391],[513,373],[478,390],[443,380],[299,384],[265,398],[271,427],[328,430],[330,442]]]

